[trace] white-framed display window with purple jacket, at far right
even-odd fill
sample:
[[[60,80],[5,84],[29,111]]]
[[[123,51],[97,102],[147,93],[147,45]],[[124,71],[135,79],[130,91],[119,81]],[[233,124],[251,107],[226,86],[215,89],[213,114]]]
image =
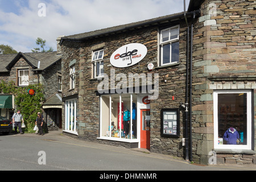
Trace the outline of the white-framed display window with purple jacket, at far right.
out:
[[[251,150],[251,91],[216,91],[214,148]]]

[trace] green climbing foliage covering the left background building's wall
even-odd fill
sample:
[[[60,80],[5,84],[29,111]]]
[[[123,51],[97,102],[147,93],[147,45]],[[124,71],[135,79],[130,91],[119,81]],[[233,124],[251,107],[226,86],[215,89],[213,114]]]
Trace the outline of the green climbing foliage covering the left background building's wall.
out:
[[[28,89],[34,89],[35,95],[31,96],[28,94]],[[41,112],[41,107],[45,100],[42,84],[18,88],[14,82],[6,83],[2,80],[0,83],[0,93],[14,94],[15,106],[23,115],[24,122],[27,126],[26,131],[31,130],[30,127],[34,127],[37,113]]]

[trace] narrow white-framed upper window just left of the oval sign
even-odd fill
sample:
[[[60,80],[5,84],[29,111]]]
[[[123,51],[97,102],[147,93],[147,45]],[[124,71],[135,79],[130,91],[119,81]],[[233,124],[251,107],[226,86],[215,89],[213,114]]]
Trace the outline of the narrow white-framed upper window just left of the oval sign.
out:
[[[97,77],[102,77],[104,74],[104,62],[103,62],[103,57],[104,57],[104,49],[100,51],[94,51],[93,52],[93,75],[94,78]]]

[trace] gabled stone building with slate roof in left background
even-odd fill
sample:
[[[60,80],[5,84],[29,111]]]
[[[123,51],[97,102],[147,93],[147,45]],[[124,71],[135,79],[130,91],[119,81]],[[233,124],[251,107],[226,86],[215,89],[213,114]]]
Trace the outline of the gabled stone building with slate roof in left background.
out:
[[[58,91],[61,91],[58,84],[59,78],[61,80],[61,55],[57,54],[57,52],[19,52],[11,55],[0,55],[0,63],[2,65],[0,79],[5,82],[13,81],[17,87],[40,83],[43,85],[43,94],[46,100],[51,98],[53,94],[55,95]],[[53,104],[51,107],[48,106],[43,110],[46,122],[48,113],[55,107],[56,105]],[[12,108],[2,108],[1,113],[10,118],[13,115],[14,109],[15,106],[13,104]],[[61,108],[59,109],[61,110]],[[48,126],[51,129],[52,125]]]

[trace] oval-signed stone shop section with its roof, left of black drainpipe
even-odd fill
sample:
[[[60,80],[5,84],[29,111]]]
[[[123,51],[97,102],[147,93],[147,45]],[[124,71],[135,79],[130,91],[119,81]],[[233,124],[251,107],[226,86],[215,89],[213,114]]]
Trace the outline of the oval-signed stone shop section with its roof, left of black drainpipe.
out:
[[[178,30],[176,38],[179,42],[179,47],[176,51],[179,53],[175,63],[161,65],[159,59],[159,36],[162,30],[166,30],[166,28],[168,29],[170,27],[177,28]],[[150,126],[148,126],[148,130],[150,130],[150,140],[148,143],[150,143],[150,146],[144,148],[150,148],[150,151],[162,154],[183,156],[184,151],[181,143],[184,130],[184,112],[179,111],[181,122],[179,125],[180,133],[177,135],[180,135],[180,138],[172,136],[164,137],[160,131],[162,127],[160,118],[162,109],[179,109],[180,103],[185,102],[186,30],[184,15],[181,13],[62,38],[63,109],[66,111],[63,115],[63,121],[65,121],[63,122],[63,128],[65,128],[64,133],[75,134],[81,139],[108,143],[115,146],[121,145],[127,148],[142,147],[141,136],[137,135],[136,138],[133,136],[134,139],[129,140],[130,135],[129,137],[126,136],[128,138],[126,139],[124,137],[125,135],[122,133],[123,128],[121,132],[119,132],[118,129],[119,120],[117,115],[118,103],[120,103],[119,97],[121,96],[122,101],[125,102],[124,107],[128,107],[131,111],[131,104],[128,102],[131,101],[130,97],[132,95],[132,100],[137,106],[137,121],[135,121],[136,123],[134,122],[137,125],[137,133],[142,133],[142,125],[139,123],[141,119],[140,111],[150,110],[150,114],[147,115],[147,117],[150,118]],[[109,31],[112,31],[113,35],[109,35]],[[90,38],[92,34],[95,35],[93,35],[93,38]],[[114,67],[110,63],[113,52],[122,46],[130,46],[130,44],[134,43],[144,45],[147,48],[144,59],[131,67]],[[108,93],[100,93],[98,86],[101,85],[103,81],[106,81],[106,78],[102,77],[102,79],[98,79],[95,77],[94,72],[93,54],[100,50],[104,50],[104,73],[106,76],[110,77],[108,81],[109,86],[105,84],[106,87],[101,86],[101,88],[106,92],[109,91]],[[154,65],[152,71],[148,69],[148,64],[150,63]],[[75,86],[71,88],[71,70],[73,67],[75,67]],[[122,78],[119,78],[118,75],[121,75]],[[147,80],[149,78],[148,75],[152,76],[152,82],[150,84],[148,84]],[[111,80],[113,79],[111,76],[114,76],[114,81]],[[146,85],[141,80],[139,80],[138,83],[134,81],[130,85],[129,78],[132,77],[134,79],[134,77],[137,76],[146,76]],[[127,82],[124,82],[124,85],[121,84],[122,86],[120,88],[123,89],[123,91],[131,89],[132,92],[122,92],[118,94],[118,84],[120,85],[120,81],[125,78],[127,78]],[[143,86],[146,86],[147,92],[142,92]],[[147,106],[142,104],[141,100],[145,96],[150,95],[150,93],[148,93],[149,86],[152,88],[155,86],[154,89],[159,89],[159,93],[158,97],[151,100],[150,105]],[[133,92],[135,88],[138,88],[138,93]],[[152,93],[151,95],[154,94],[156,93]],[[103,129],[104,126],[102,126],[106,124],[104,123],[104,115],[106,115],[107,118],[109,117],[110,97],[112,99],[112,102],[110,102],[112,103],[112,109],[115,110],[115,114],[114,111],[112,113],[112,119],[116,119],[116,121],[114,121],[114,119],[112,120],[114,122],[112,126],[115,128],[117,135],[108,134],[108,132],[110,132],[108,127]],[[74,107],[76,107],[75,110],[73,110]],[[73,117],[70,117],[72,113],[67,113],[67,110],[73,110]],[[72,118],[77,118],[77,121]],[[76,122],[75,124],[73,124],[74,121]],[[75,125],[75,128],[73,125]],[[108,126],[110,126],[110,124]],[[175,127],[177,126],[175,125]],[[134,133],[134,130],[132,132]]]

